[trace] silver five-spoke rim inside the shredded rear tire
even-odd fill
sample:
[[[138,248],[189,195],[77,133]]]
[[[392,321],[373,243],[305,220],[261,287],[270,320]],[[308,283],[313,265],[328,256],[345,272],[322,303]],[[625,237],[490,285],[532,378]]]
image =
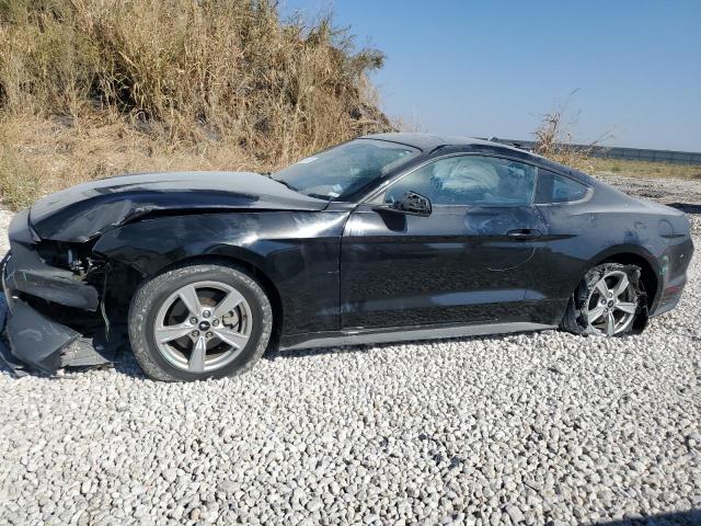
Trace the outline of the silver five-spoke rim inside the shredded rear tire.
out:
[[[635,318],[635,299],[628,274],[623,271],[606,273],[587,298],[589,327],[607,336],[625,331]]]

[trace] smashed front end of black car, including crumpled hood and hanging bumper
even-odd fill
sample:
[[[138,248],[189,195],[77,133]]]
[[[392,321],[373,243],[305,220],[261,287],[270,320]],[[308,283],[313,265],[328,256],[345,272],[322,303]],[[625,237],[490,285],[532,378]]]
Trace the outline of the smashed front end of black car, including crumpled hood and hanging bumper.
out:
[[[327,204],[251,172],[122,175],[47,195],[10,225],[0,354],[16,373],[112,361],[146,276],[136,270],[143,254],[131,247],[120,248],[122,259],[93,250],[107,232],[159,214],[319,211]]]

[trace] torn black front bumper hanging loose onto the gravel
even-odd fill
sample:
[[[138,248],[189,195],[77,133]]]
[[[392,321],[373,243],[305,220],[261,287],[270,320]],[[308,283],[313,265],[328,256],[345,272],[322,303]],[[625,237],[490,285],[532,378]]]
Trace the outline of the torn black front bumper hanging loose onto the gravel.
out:
[[[11,251],[0,263],[0,358],[18,375],[26,369],[55,374],[64,367],[97,366],[113,362],[125,339],[106,339],[104,328],[84,335],[50,318],[50,311],[78,308],[95,311],[97,290],[73,273],[47,265],[20,213],[10,225]],[[49,306],[39,312],[35,298]]]

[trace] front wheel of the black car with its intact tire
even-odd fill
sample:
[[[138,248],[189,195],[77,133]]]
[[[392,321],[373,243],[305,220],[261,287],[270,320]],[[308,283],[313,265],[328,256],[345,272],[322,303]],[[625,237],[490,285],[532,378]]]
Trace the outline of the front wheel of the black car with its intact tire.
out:
[[[193,381],[250,369],[269,342],[273,309],[242,268],[194,264],[145,282],[128,323],[134,355],[148,376]]]

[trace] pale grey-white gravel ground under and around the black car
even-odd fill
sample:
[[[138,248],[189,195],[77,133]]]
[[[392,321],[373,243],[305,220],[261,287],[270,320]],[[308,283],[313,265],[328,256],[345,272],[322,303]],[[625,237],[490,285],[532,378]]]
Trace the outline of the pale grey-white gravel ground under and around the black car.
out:
[[[698,256],[689,278],[620,340],[286,353],[199,384],[148,380],[128,354],[1,373],[0,523],[700,524]]]

